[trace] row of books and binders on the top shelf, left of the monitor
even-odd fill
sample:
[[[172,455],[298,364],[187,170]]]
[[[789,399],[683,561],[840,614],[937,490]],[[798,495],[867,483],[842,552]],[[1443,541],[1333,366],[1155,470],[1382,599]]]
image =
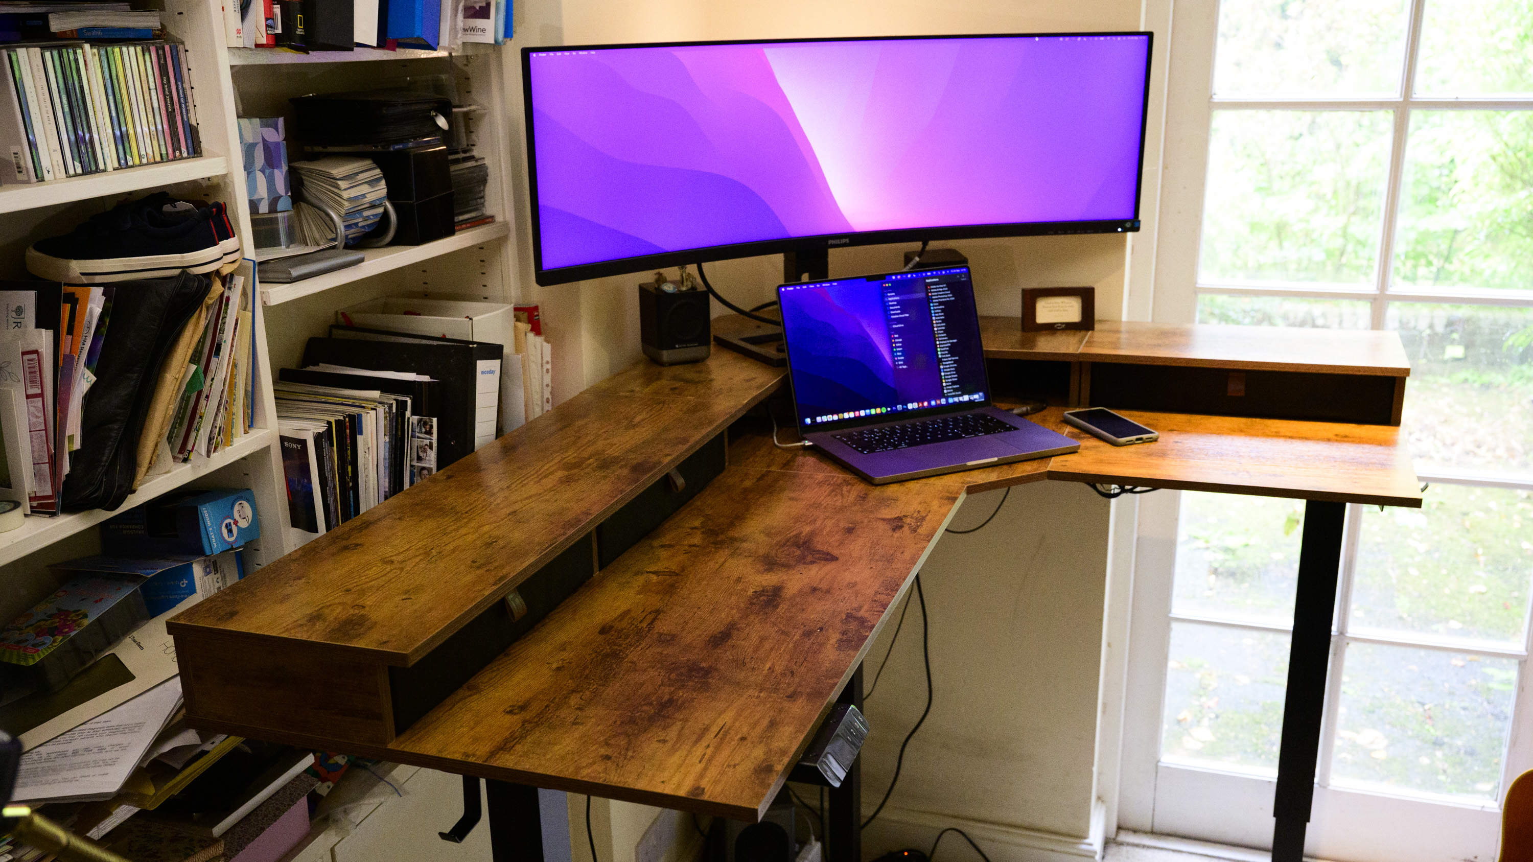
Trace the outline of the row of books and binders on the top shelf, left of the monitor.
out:
[[[230,46],[457,51],[512,37],[510,0],[224,0]]]

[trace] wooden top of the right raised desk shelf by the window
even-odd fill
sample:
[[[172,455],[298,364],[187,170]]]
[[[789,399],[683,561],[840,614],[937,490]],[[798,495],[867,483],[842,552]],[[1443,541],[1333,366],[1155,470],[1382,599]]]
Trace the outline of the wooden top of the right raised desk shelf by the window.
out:
[[[989,344],[986,345],[989,347]],[[1084,362],[1269,368],[1406,377],[1410,360],[1398,333],[1098,321]]]

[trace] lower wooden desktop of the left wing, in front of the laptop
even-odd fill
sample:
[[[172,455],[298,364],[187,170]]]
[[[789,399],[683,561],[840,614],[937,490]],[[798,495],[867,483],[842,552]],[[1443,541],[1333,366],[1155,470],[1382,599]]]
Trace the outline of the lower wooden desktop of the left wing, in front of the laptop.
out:
[[[961,488],[731,466],[391,750],[756,819]]]

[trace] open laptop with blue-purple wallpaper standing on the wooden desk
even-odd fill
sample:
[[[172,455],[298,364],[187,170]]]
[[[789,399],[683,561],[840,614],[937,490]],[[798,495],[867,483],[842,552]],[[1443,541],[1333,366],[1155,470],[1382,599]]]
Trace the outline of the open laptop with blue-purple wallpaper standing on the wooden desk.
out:
[[[969,267],[777,287],[799,434],[885,485],[1075,452],[990,403]]]

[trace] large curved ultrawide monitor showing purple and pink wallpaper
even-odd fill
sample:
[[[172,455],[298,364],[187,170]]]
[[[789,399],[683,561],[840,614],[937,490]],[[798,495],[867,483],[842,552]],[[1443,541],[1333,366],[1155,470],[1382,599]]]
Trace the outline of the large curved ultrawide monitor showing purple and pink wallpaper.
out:
[[[538,284],[1139,227],[1150,34],[523,49]]]

